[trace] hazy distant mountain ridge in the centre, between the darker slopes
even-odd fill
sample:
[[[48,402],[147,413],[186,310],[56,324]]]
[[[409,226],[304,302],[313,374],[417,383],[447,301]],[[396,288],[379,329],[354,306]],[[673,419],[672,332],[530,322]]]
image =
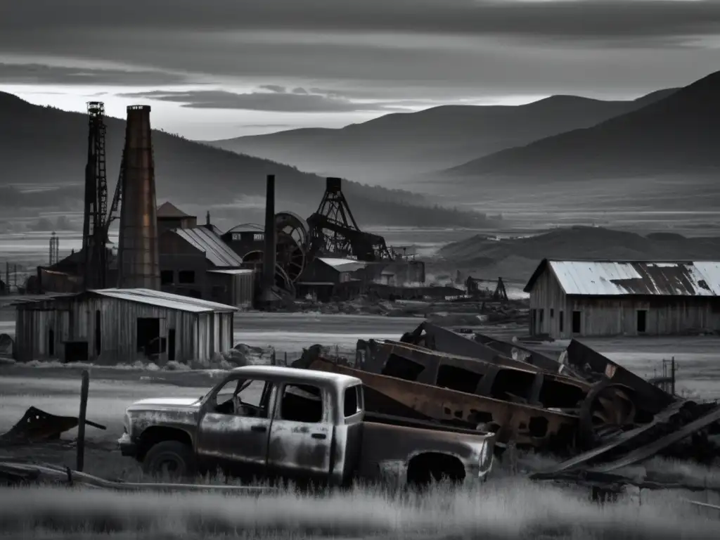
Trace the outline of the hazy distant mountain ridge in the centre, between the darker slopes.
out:
[[[211,144],[292,163],[304,171],[391,186],[393,177],[436,171],[549,135],[590,127],[672,91],[628,102],[552,96],[521,106],[446,105],[386,114],[341,129],[288,130]]]

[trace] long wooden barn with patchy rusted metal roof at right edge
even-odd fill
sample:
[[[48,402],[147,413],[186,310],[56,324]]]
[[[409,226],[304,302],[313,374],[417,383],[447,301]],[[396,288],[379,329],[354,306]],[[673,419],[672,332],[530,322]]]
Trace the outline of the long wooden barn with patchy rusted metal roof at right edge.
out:
[[[720,330],[720,262],[544,259],[524,290],[531,336]]]

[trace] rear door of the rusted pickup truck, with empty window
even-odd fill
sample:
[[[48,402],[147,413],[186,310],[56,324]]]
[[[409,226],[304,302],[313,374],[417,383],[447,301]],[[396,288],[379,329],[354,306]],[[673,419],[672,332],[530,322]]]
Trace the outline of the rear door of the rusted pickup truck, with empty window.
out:
[[[332,466],[330,395],[308,384],[281,384],[270,428],[268,466],[288,478],[327,480]]]

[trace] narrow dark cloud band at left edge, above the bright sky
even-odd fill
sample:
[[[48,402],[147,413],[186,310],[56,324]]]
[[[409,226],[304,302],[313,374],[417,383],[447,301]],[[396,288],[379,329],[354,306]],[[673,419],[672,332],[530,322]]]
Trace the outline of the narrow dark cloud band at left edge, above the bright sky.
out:
[[[124,71],[47,66],[39,63],[0,63],[0,84],[156,86],[188,82],[190,82],[188,76],[167,71]],[[194,84],[198,84],[197,81]]]

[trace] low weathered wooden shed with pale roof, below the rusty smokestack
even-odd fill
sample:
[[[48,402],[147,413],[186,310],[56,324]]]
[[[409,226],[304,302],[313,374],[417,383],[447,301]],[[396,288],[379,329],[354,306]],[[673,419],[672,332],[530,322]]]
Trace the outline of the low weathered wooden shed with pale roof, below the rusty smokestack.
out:
[[[233,306],[150,289],[100,289],[16,305],[18,361],[208,361],[233,346]]]

